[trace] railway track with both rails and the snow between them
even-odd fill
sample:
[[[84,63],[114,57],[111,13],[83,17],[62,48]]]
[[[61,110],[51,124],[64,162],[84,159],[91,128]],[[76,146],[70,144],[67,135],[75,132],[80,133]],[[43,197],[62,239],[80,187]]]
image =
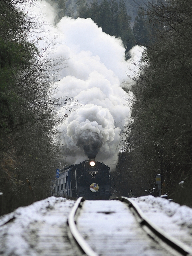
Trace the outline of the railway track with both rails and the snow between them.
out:
[[[163,232],[125,197],[110,201],[78,198],[68,226],[77,255],[192,256],[192,248]]]

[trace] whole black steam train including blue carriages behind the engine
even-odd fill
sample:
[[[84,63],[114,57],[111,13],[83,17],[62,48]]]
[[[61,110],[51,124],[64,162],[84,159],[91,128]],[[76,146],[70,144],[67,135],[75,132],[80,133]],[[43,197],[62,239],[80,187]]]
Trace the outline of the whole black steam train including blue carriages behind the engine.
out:
[[[52,196],[86,200],[109,200],[111,194],[110,168],[88,156],[80,164],[60,170],[59,178],[52,181]]]

